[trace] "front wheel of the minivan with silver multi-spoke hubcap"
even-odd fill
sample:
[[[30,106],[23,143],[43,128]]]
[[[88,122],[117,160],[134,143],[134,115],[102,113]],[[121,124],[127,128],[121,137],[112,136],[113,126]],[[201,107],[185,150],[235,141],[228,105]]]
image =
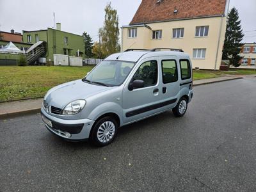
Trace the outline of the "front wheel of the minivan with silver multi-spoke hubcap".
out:
[[[112,143],[118,131],[118,123],[115,118],[105,116],[97,120],[93,125],[90,142],[97,147],[104,147]]]

